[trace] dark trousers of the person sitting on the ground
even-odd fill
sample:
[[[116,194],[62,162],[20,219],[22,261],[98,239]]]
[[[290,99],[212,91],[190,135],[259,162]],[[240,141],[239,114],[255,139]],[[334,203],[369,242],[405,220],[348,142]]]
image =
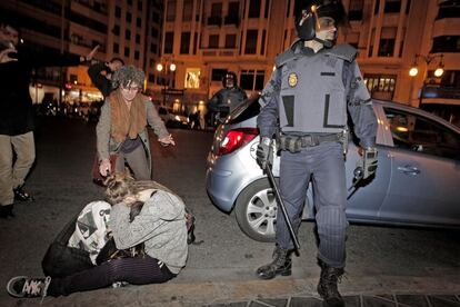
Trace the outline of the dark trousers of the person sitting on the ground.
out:
[[[52,278],[47,294],[60,296],[94,290],[111,286],[116,281],[127,281],[132,285],[160,284],[174,276],[164,264],[149,256],[120,258],[71,276]]]

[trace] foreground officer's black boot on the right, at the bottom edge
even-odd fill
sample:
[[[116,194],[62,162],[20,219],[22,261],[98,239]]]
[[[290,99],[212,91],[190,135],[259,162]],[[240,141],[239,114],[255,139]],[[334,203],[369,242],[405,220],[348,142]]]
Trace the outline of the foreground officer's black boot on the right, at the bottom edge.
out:
[[[333,268],[320,261],[321,277],[318,284],[318,294],[322,297],[323,306],[344,307],[342,296],[339,294],[337,283],[343,275],[343,268]]]

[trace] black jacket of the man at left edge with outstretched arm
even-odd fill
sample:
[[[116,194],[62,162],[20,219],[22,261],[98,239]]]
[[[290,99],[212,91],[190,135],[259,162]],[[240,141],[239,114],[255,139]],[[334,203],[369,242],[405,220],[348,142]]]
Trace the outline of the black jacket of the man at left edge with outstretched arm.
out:
[[[17,136],[34,128],[32,99],[29,95],[34,67],[78,66],[73,55],[39,55],[18,49],[18,61],[0,63],[0,135]]]

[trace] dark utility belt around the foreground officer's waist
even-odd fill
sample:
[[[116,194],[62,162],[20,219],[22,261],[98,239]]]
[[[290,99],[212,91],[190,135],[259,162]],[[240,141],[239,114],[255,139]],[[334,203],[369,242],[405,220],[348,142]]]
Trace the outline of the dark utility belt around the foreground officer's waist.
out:
[[[347,136],[347,138],[344,138]],[[334,133],[334,135],[306,135],[306,136],[292,136],[292,135],[279,135],[278,149],[289,150],[290,152],[299,152],[302,148],[314,147],[327,141],[341,142],[344,147],[348,133]]]

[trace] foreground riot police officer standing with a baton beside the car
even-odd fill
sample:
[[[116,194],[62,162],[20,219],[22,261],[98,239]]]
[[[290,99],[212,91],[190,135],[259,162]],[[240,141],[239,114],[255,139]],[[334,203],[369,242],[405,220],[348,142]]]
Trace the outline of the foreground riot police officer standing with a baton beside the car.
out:
[[[342,3],[309,2],[296,18],[299,38],[277,57],[276,70],[259,100],[257,160],[263,169],[271,161],[272,138],[278,131],[281,197],[294,231],[312,181],[321,267],[318,293],[326,306],[344,306],[337,283],[346,266],[347,119],[349,115],[364,152],[359,164],[364,178],[377,168],[377,119],[354,60],[356,49],[334,47],[337,28],[346,19]],[[293,244],[281,214],[276,240],[272,263],[257,270],[262,279],[291,274]]]

